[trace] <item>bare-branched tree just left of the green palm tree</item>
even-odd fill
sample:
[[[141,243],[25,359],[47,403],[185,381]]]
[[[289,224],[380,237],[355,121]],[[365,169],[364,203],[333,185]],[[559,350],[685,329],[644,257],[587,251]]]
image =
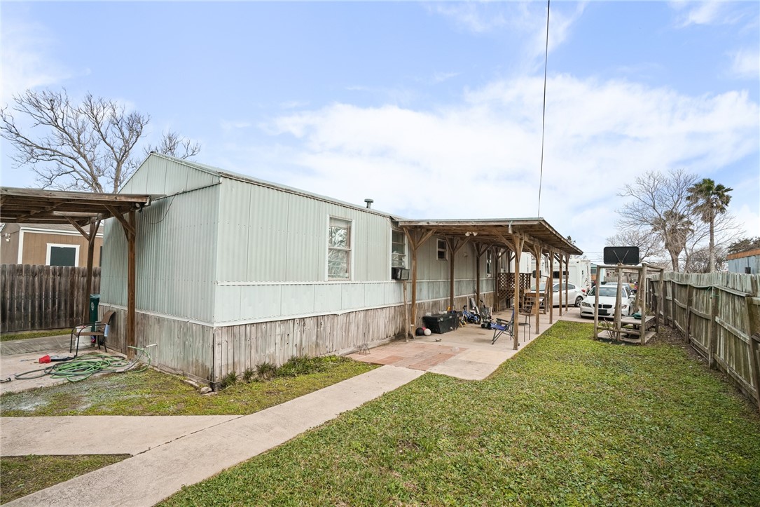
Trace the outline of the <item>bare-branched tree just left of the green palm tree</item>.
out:
[[[693,225],[686,196],[695,180],[695,175],[683,169],[667,174],[649,171],[626,184],[618,194],[629,198],[618,210],[618,227],[657,234],[670,254],[673,271],[679,270],[679,256]]]

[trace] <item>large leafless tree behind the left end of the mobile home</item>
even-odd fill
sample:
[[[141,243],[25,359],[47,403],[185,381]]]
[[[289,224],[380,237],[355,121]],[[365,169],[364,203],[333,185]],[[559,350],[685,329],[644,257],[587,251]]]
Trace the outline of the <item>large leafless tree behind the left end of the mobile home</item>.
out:
[[[0,136],[15,148],[14,167],[30,167],[40,187],[116,193],[138,166],[133,151],[149,116],[89,93],[72,104],[65,89],[27,90],[13,102],[0,110]],[[22,128],[14,113],[31,126]],[[153,149],[188,158],[201,147],[169,131]]]

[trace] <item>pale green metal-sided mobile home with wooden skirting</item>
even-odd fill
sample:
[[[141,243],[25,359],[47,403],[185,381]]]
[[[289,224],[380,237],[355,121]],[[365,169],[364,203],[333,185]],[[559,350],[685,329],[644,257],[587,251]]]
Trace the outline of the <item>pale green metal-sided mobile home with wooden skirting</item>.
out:
[[[218,381],[403,336],[406,294],[391,268],[409,268],[412,255],[397,218],[155,153],[121,193],[154,196],[135,217],[135,344],[157,343],[154,364]],[[100,304],[117,311],[109,340],[125,349],[127,244],[115,219],[104,234]],[[436,236],[416,251],[420,318],[448,306],[448,257]],[[478,270],[492,305],[493,258],[458,250],[454,306],[476,292]]]

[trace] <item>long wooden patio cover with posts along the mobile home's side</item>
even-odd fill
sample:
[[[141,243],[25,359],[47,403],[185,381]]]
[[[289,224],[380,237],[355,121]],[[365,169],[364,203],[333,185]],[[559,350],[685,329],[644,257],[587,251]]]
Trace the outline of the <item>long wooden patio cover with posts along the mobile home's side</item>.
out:
[[[559,260],[560,271],[562,261],[565,261],[565,269],[571,255],[583,253],[575,244],[559,234],[543,218],[498,218],[477,220],[398,220],[397,227],[407,234],[407,241],[411,250],[411,323],[407,323],[407,333],[416,326],[417,319],[417,252],[433,235],[443,238],[448,245],[449,252],[449,306],[454,308],[454,254],[461,250],[468,242],[475,247],[476,263],[476,292],[480,295],[480,257],[489,248],[511,250],[515,256],[515,279],[520,275],[520,257],[524,251],[530,252],[539,260],[543,254],[549,256],[549,284],[552,287],[554,260]],[[562,314],[562,276],[559,277],[559,312]],[[565,287],[565,301],[567,298]],[[519,286],[515,283],[515,306],[519,299]],[[552,292],[549,291],[549,300],[546,305],[549,308],[549,322],[553,321]],[[539,295],[536,294],[535,306],[538,308]],[[515,310],[516,311],[516,310]],[[539,316],[536,314],[536,333],[539,333]],[[518,334],[514,335],[514,348],[518,349]]]

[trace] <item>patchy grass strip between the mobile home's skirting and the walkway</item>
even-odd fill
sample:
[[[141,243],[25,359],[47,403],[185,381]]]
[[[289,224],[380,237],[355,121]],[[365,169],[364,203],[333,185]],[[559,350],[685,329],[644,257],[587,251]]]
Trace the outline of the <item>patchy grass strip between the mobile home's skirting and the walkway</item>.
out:
[[[176,375],[154,370],[88,378],[0,397],[2,416],[211,416],[249,414],[376,368],[347,358],[315,358],[313,371],[271,381],[238,381],[202,395]]]

